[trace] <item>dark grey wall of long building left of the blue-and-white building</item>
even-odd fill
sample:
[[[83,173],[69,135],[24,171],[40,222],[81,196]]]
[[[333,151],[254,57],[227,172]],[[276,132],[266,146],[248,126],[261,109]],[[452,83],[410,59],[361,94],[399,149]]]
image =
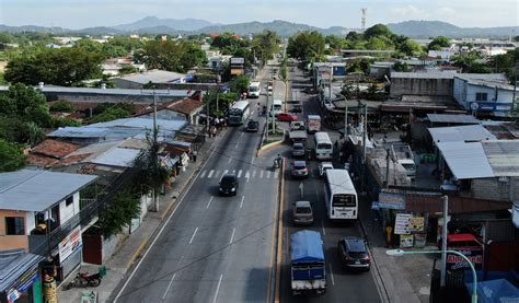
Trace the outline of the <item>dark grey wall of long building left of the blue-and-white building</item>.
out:
[[[391,79],[390,95],[452,95],[452,79]]]

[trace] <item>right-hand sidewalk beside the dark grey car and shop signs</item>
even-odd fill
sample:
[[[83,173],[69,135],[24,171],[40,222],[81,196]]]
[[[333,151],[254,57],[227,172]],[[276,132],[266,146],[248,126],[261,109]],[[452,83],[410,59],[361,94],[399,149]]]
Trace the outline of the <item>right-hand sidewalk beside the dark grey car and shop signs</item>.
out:
[[[434,256],[388,256],[383,229],[376,212],[371,210],[371,201],[362,201],[362,198],[359,200],[359,221],[371,250],[374,265],[371,270],[382,302],[429,302]]]

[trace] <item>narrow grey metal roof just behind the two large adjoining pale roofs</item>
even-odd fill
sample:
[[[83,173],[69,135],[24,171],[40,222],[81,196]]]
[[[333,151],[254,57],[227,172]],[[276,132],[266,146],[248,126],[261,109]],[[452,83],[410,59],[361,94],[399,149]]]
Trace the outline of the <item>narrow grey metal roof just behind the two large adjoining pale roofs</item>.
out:
[[[496,140],[496,137],[481,125],[434,127],[428,130],[434,142]]]

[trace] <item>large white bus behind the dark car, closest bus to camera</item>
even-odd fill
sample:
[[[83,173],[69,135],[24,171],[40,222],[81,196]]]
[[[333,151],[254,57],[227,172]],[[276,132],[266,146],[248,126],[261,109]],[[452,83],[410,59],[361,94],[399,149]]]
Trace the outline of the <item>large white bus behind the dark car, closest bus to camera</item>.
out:
[[[324,183],[326,212],[331,220],[357,220],[358,199],[346,170],[326,170]]]

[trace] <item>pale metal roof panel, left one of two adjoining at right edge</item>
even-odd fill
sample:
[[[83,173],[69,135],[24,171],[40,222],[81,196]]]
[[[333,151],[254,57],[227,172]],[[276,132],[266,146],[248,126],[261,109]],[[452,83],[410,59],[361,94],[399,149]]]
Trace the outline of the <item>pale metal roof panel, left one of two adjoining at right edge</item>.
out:
[[[458,179],[494,177],[481,142],[437,142],[436,145]]]

